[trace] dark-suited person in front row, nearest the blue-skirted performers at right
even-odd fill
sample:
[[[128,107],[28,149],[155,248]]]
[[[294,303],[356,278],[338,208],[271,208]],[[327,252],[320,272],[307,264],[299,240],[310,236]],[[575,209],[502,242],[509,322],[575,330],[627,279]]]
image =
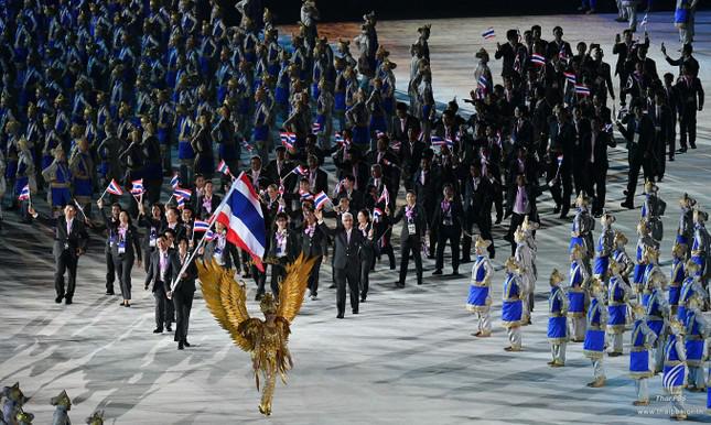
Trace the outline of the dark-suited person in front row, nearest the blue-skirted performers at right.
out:
[[[444,265],[444,246],[450,241],[452,249],[452,275],[460,274],[460,238],[462,237],[462,219],[464,211],[462,203],[454,197],[452,185],[444,185],[443,198],[439,206],[434,207],[431,228],[438,228],[437,239],[437,265],[432,274],[442,274]]]

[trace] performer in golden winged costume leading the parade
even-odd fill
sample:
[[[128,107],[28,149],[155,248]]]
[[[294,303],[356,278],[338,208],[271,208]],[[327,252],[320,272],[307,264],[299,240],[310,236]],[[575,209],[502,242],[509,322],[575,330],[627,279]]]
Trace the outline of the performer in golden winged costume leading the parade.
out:
[[[235,281],[229,270],[212,260],[197,262],[205,304],[219,325],[229,333],[235,345],[251,353],[257,391],[260,375],[265,381],[259,412],[267,416],[271,414],[277,375],[287,383],[287,371],[293,367],[287,346],[290,325],[301,309],[314,261],[315,259],[305,260],[300,255],[287,266],[279,299],[267,294],[259,304],[265,320],[249,317],[245,286]]]

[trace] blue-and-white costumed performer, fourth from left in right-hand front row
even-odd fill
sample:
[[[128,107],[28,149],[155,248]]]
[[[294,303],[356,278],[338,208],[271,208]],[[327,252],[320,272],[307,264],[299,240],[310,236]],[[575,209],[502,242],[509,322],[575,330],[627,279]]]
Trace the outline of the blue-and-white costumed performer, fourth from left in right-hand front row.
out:
[[[583,355],[593,363],[593,381],[588,383],[591,388],[605,385],[605,369],[603,358],[605,355],[605,326],[607,325],[607,307],[605,306],[605,288],[597,279],[589,281],[588,291],[591,294],[588,308],[588,330],[583,344]]]

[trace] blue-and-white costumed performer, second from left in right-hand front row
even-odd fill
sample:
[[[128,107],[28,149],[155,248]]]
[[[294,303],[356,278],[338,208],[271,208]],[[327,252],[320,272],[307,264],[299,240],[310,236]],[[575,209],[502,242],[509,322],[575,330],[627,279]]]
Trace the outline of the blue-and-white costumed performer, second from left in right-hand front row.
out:
[[[504,266],[506,268],[506,280],[504,281],[504,299],[502,303],[502,325],[506,328],[510,344],[504,349],[506,351],[520,351],[521,325],[524,323],[521,265],[511,257],[506,260]]]

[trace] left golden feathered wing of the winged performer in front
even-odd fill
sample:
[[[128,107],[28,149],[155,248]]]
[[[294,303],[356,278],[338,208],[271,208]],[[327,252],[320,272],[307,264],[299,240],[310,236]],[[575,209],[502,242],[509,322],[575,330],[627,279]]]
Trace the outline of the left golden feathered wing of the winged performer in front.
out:
[[[246,338],[238,329],[241,323],[249,320],[245,288],[235,281],[230,271],[214,260],[196,261],[195,264],[207,308],[237,347],[248,352],[254,350],[252,338]]]

